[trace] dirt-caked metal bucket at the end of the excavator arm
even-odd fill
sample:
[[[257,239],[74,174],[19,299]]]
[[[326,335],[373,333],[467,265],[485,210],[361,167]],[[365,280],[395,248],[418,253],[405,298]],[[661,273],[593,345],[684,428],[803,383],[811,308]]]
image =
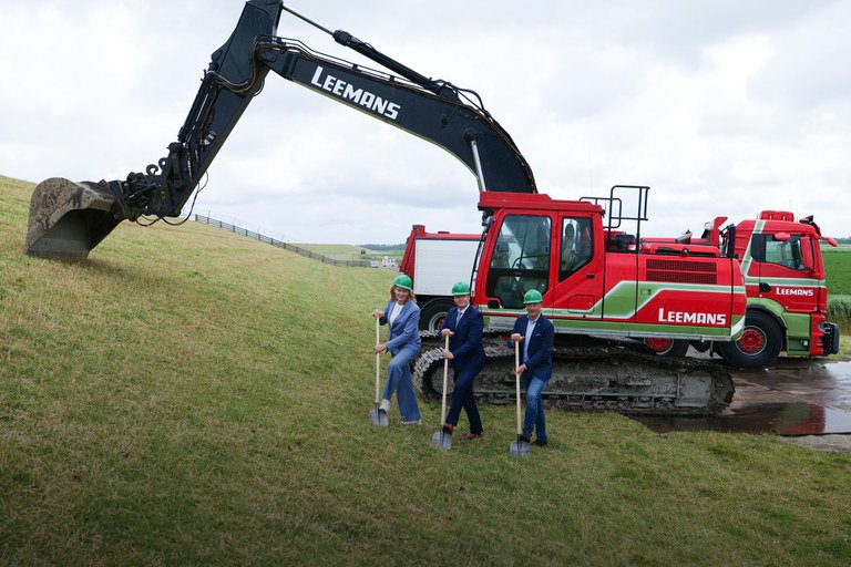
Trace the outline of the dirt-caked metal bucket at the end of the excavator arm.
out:
[[[83,259],[119,223],[115,197],[106,184],[74,183],[62,177],[41,182],[30,199],[27,254]]]

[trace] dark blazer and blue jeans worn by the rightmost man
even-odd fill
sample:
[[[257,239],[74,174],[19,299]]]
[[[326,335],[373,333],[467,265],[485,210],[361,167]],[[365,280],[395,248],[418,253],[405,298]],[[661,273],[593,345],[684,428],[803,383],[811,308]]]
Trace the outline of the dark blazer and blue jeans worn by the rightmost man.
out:
[[[544,415],[541,392],[553,375],[555,328],[543,315],[537,317],[532,337],[526,337],[527,326],[529,316],[522,315],[514,321],[514,329],[512,330],[512,334],[519,333],[524,337],[523,341],[520,342],[520,363],[526,365],[526,370],[521,377],[521,385],[526,389],[526,415],[523,420],[523,433],[531,437],[532,432],[536,431],[537,439],[546,441],[546,416]],[[524,354],[526,341],[529,341],[527,358]],[[509,339],[509,348],[513,348],[511,339]]]

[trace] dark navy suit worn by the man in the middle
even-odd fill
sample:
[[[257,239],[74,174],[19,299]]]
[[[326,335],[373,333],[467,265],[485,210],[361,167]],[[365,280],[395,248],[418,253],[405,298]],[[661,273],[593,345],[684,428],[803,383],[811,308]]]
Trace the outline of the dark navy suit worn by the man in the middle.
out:
[[[479,408],[473,398],[473,380],[484,368],[485,355],[482,346],[482,331],[484,318],[473,306],[468,306],[461,320],[458,320],[458,308],[453,307],[447,313],[443,328],[454,334],[449,338],[449,351],[454,357],[450,364],[454,369],[455,390],[452,393],[452,403],[449,405],[447,423],[458,425],[461,416],[461,408],[466,410],[470,420],[470,433],[482,434],[482,420],[479,416]]]

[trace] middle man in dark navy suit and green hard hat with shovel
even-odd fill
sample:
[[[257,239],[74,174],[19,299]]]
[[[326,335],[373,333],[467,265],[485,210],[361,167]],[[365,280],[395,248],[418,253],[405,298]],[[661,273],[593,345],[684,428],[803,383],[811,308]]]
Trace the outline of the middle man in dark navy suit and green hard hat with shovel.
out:
[[[461,416],[461,408],[466,411],[470,420],[470,433],[463,436],[466,440],[482,439],[484,429],[479,416],[479,408],[473,398],[473,381],[484,368],[485,357],[482,346],[482,331],[484,318],[476,308],[470,305],[470,286],[459,281],[452,286],[452,298],[455,307],[449,310],[440,331],[443,337],[449,337],[449,350],[443,349],[443,358],[449,359],[454,370],[455,390],[452,393],[452,402],[447,414],[443,431],[450,435],[458,425]]]

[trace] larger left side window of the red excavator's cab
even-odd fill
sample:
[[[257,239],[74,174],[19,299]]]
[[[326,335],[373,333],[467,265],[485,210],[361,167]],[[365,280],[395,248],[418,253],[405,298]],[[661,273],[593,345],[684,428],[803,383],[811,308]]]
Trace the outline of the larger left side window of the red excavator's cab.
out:
[[[550,217],[506,215],[491,258],[485,291],[503,308],[522,309],[531,289],[542,295],[550,274]]]

